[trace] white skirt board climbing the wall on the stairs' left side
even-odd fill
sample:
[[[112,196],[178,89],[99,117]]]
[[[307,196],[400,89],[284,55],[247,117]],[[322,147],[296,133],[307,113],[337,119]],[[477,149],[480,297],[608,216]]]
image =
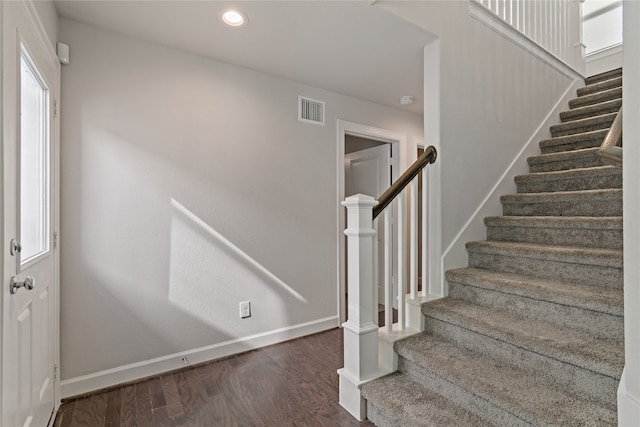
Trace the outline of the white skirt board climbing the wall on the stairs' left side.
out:
[[[584,86],[584,80],[574,80],[571,86],[562,94],[551,112],[545,117],[533,135],[531,135],[527,143],[520,149],[511,164],[502,173],[500,178],[498,178],[498,181],[478,205],[478,208],[471,214],[467,222],[442,253],[443,271],[466,265],[467,251],[465,243],[483,240],[486,237],[484,218],[487,216],[501,215],[502,205],[500,204],[500,196],[515,192],[516,185],[513,180],[514,176],[529,172],[527,157],[540,154],[539,141],[549,138],[549,127],[558,123],[558,115],[561,111],[568,108],[569,101],[575,97],[575,90],[582,86]]]

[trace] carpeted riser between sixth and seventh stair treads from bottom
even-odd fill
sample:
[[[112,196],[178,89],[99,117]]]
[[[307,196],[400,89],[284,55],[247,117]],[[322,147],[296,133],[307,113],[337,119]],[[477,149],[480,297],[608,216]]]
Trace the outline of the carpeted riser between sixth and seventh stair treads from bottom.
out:
[[[502,202],[505,216],[622,216],[621,199],[543,203]]]

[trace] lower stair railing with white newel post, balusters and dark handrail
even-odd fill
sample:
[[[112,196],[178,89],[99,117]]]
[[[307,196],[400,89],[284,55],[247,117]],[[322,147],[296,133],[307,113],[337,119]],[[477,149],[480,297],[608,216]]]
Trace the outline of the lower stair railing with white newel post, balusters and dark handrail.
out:
[[[428,299],[426,282],[426,174],[423,173],[423,236],[422,236],[422,289],[418,291],[418,174],[436,160],[434,147],[424,153],[407,171],[376,201],[373,197],[357,194],[348,197],[342,204],[347,208],[347,256],[348,275],[347,321],[344,328],[344,367],[340,375],[340,404],[354,417],[366,417],[365,400],[358,388],[361,384],[397,369],[393,342],[424,329],[421,302]],[[409,210],[410,245],[407,245],[406,189],[411,185],[411,207]],[[397,210],[396,242],[392,233],[392,203]],[[384,277],[376,279],[377,239],[376,217],[384,213]],[[396,245],[398,266],[397,285],[391,280],[393,246]],[[407,256],[407,248],[409,254]],[[409,261],[407,263],[407,260]],[[407,282],[407,273],[409,282]],[[384,283],[385,326],[379,328],[378,311],[375,308],[377,283]],[[407,283],[409,294],[407,297]],[[394,306],[398,321],[393,322]]]

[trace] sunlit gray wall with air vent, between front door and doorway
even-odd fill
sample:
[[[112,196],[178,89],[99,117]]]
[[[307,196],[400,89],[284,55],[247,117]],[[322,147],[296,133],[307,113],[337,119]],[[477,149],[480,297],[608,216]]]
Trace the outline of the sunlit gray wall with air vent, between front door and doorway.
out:
[[[59,30],[62,378],[337,316],[337,119],[411,139],[422,117]],[[298,95],[326,101],[326,127],[297,121]]]

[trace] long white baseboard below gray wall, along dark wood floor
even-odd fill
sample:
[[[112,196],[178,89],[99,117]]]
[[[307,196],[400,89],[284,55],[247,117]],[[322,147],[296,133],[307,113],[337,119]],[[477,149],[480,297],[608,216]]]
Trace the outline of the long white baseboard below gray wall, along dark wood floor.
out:
[[[144,360],[117,368],[106,369],[88,375],[82,375],[63,380],[61,385],[62,398],[78,396],[89,392],[123,384],[138,379],[173,371],[185,366],[183,357],[189,364],[208,362],[233,354],[242,353],[256,348],[277,344],[305,335],[326,331],[340,325],[338,316],[326,317],[311,322],[286,328],[275,329],[248,337],[237,338],[222,343],[200,347],[192,350],[174,353],[167,356]]]

